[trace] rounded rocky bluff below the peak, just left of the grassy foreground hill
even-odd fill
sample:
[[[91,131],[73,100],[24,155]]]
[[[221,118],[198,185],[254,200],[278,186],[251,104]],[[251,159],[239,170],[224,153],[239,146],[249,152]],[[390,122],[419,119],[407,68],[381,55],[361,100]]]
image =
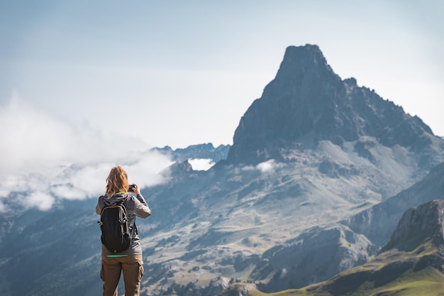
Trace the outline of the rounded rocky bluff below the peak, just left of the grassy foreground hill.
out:
[[[271,278],[267,285],[257,285],[263,292],[304,287],[361,265],[376,252],[365,236],[345,226],[315,227],[265,251],[250,280]]]

